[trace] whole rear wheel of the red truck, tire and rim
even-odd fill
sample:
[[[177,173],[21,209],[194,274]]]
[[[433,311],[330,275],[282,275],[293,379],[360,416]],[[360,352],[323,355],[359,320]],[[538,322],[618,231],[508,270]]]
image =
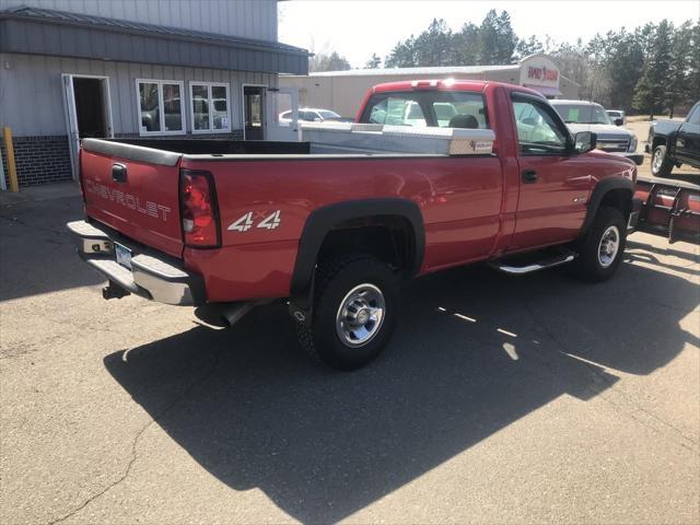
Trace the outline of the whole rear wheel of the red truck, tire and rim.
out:
[[[296,325],[301,346],[336,369],[368,364],[386,347],[398,318],[399,283],[388,265],[350,255],[324,265],[316,278],[311,326]]]

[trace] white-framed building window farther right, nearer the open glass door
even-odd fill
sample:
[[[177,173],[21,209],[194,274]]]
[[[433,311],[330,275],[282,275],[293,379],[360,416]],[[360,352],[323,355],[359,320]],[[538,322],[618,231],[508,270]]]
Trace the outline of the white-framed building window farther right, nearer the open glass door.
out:
[[[189,100],[192,133],[231,131],[229,84],[190,82]]]

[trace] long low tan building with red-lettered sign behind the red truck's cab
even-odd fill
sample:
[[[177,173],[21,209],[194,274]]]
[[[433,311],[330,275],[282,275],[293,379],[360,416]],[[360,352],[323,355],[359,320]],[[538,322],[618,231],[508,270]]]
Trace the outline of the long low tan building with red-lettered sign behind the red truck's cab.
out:
[[[509,66],[446,66],[438,68],[351,69],[280,77],[280,85],[299,89],[300,107],[323,107],[354,117],[364,93],[384,82],[413,79],[493,80],[539,91],[548,98],[578,98],[579,84],[561,75],[545,55],[532,55]]]

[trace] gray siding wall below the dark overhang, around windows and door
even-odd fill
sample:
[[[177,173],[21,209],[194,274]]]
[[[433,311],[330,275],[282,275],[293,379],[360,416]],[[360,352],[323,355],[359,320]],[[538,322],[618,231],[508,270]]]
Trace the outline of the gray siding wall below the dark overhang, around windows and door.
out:
[[[230,84],[233,130],[243,128],[242,84],[277,86],[277,74],[270,73],[0,54],[0,126],[10,126],[18,137],[66,135],[61,73],[109,78],[115,135],[139,132],[137,79],[184,82],[187,130],[190,81]]]

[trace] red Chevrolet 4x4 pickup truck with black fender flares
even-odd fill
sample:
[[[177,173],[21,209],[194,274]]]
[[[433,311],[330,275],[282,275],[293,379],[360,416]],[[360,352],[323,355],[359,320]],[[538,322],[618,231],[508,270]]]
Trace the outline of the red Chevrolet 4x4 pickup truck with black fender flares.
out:
[[[383,84],[358,121],[347,126],[369,143],[465,129],[492,142],[318,153],[303,141],[85,139],[86,217],[68,228],[108,279],[105,299],[207,305],[231,324],[284,301],[301,345],[341,370],[387,345],[402,280],[476,261],[508,273],[570,264],[590,281],[617,270],[637,168],[595,150],[595,135],[571,136],[536,92]]]

